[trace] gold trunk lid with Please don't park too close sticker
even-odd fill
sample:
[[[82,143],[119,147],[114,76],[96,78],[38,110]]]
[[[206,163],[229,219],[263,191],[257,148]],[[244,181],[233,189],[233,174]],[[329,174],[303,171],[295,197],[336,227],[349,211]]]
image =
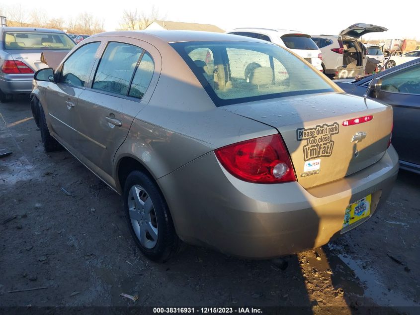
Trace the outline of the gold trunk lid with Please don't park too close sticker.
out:
[[[276,128],[304,188],[338,180],[377,162],[387,149],[393,121],[391,106],[342,93],[286,97],[224,109]],[[345,123],[367,115],[373,119]]]

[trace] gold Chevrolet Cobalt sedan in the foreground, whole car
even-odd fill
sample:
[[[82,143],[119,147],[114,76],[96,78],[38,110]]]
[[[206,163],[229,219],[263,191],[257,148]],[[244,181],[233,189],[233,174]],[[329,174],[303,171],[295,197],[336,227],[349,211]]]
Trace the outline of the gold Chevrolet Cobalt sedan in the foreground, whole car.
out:
[[[36,73],[32,99],[45,150],[123,195],[158,261],[180,240],[250,258],[321,246],[375,214],[398,172],[391,106],[244,36],[93,35]]]

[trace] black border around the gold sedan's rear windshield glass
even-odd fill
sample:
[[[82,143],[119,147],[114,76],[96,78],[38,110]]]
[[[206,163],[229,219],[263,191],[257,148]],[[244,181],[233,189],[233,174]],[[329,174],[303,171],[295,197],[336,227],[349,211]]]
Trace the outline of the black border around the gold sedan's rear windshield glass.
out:
[[[234,104],[243,104],[243,103],[250,103],[250,102],[257,102],[257,101],[267,101],[272,99],[278,99],[283,97],[289,96],[299,96],[299,95],[308,95],[308,94],[317,94],[317,93],[328,93],[328,92],[336,92],[336,90],[331,87],[331,85],[325,81],[328,85],[330,85],[330,89],[322,89],[322,90],[299,90],[299,91],[290,91],[290,92],[282,92],[282,93],[275,93],[275,94],[267,94],[262,96],[252,96],[246,98],[237,98],[237,99],[221,99],[217,96],[216,92],[211,88],[209,82],[206,80],[204,75],[198,72],[197,67],[194,64],[194,61],[188,56],[188,53],[184,49],[184,45],[186,44],[220,44],[217,41],[196,41],[196,42],[174,42],[169,43],[169,45],[181,56],[184,62],[188,65],[191,72],[197,78],[197,80],[201,83],[203,89],[207,92],[210,99],[213,101],[214,105],[217,107],[225,106],[225,105],[234,105]],[[249,42],[248,42],[249,43]],[[267,45],[276,45],[270,42],[266,42]],[[213,53],[214,55],[214,53]],[[313,71],[313,70],[311,70]]]

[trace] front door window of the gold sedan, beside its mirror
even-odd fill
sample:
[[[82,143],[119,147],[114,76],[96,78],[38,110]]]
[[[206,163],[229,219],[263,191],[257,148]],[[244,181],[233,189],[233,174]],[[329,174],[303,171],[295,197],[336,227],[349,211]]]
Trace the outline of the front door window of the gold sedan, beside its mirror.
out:
[[[84,87],[90,76],[100,42],[83,45],[63,64],[59,83]]]

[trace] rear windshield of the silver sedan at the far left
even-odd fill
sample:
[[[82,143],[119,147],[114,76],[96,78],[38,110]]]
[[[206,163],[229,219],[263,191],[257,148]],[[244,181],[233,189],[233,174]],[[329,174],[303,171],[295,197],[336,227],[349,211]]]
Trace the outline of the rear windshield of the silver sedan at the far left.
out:
[[[4,49],[70,50],[76,44],[67,34],[48,32],[4,32]]]

